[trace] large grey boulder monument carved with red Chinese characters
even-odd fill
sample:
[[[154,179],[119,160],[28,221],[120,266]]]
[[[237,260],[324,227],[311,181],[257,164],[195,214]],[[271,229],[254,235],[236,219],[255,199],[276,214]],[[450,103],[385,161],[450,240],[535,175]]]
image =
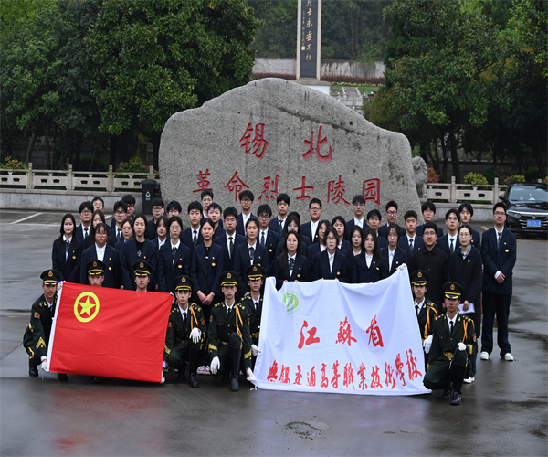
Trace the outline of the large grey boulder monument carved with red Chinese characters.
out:
[[[237,194],[255,195],[254,211],[287,193],[290,210],[308,220],[318,197],[327,218],[352,218],[362,194],[366,211],[394,199],[400,219],[418,212],[411,149],[401,133],[380,129],[332,97],[287,80],[249,82],[201,108],[176,112],[165,124],[160,175],[166,203],[185,208],[206,188],[223,208]],[[400,220],[401,222],[401,220]]]

